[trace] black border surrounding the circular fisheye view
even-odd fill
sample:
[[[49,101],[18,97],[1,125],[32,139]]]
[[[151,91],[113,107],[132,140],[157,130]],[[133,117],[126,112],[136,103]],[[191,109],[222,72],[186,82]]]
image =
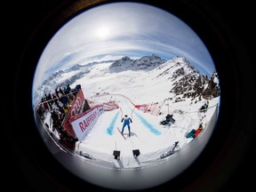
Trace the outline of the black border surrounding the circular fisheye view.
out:
[[[7,179],[15,180],[20,188],[35,191],[76,191],[81,188],[108,191],[107,188],[98,188],[80,180],[52,157],[36,129],[31,106],[31,88],[37,61],[58,28],[65,24],[68,17],[77,14],[74,12],[76,8],[67,11],[68,6],[72,7],[77,2],[56,0],[17,3],[16,8],[12,8],[17,13],[15,23],[20,29],[12,35],[15,35],[12,52],[16,54],[13,60],[17,67],[12,82],[15,122],[10,119],[12,126],[5,134],[11,138],[7,140],[11,150],[6,149],[6,154],[13,154],[12,158],[6,158],[9,167],[13,167],[10,172],[14,175]],[[97,4],[87,2],[90,2],[88,9],[98,4],[120,1],[99,1]],[[250,100],[253,99],[255,79],[250,60],[251,42],[248,41],[252,35],[252,23],[246,20],[252,20],[252,8],[248,4],[223,4],[212,0],[204,3],[196,0],[130,2],[156,5],[185,21],[211,53],[220,78],[220,115],[202,155],[177,178],[145,191],[164,191],[166,188],[172,191],[225,191],[239,187],[249,189],[252,184],[247,172],[255,169],[255,157],[252,157],[252,149],[255,150],[252,142],[255,134],[252,128],[254,103]],[[242,13],[243,10],[245,12]],[[14,23],[14,20],[11,21]]]

